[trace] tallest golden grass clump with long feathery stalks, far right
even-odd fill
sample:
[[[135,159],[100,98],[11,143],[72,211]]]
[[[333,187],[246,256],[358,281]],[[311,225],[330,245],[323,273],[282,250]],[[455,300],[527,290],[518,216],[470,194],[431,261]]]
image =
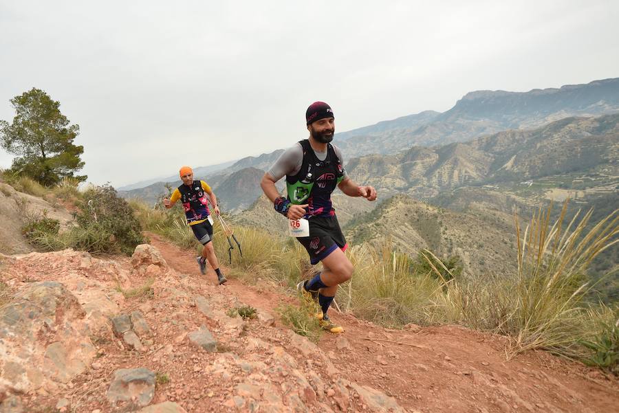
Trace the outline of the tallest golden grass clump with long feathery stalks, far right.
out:
[[[501,330],[514,339],[513,351],[545,348],[563,355],[578,353],[578,342],[591,335],[583,325],[591,284],[587,266],[600,252],[619,240],[616,210],[585,230],[592,214],[580,221],[579,212],[565,225],[567,202],[551,225],[552,205],[533,216],[524,230],[516,222],[518,273],[512,295],[513,312]]]

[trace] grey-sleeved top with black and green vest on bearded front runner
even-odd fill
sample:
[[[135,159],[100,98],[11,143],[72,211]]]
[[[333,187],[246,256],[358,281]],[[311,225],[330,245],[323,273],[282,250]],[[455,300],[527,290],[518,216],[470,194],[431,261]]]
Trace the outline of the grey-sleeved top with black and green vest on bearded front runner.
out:
[[[322,159],[318,155],[323,155]],[[316,153],[310,141],[304,139],[286,150],[268,173],[275,181],[286,176],[288,199],[308,204],[305,218],[334,216],[331,194],[347,178],[341,160],[339,149],[332,144],[327,144],[326,153]]]

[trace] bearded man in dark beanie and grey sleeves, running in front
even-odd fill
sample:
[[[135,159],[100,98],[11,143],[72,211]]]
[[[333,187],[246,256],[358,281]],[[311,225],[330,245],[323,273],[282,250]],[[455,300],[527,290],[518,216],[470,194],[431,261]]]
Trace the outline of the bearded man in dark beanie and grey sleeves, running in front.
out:
[[[343,157],[337,146],[330,144],[335,132],[334,114],[325,102],[314,102],[305,112],[310,138],[303,139],[277,159],[260,183],[277,212],[290,220],[309,220],[310,236],[296,239],[310,254],[310,263],[323,263],[323,271],[312,280],[298,284],[305,295],[318,296],[322,309],[321,327],[332,333],[342,333],[327,315],[338,284],[352,276],[353,267],[344,251],[348,247],[335,210],[331,193],[336,186],[349,197],[376,199],[371,186],[358,186],[346,174]],[[275,183],[286,177],[287,197],[280,197]]]

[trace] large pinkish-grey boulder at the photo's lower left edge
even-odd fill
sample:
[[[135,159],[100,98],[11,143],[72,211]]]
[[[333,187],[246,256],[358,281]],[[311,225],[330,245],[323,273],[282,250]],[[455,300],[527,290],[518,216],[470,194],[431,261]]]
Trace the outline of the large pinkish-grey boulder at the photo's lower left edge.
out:
[[[0,387],[54,390],[96,355],[85,311],[60,282],[33,282],[0,309]]]

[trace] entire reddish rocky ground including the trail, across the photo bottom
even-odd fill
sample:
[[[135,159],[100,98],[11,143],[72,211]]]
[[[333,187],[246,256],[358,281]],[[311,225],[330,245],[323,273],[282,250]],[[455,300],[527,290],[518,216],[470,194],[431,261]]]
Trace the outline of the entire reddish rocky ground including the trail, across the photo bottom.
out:
[[[296,299],[199,274],[152,236],[133,257],[0,256],[0,413],[611,412],[616,379],[457,326],[393,331],[336,313],[318,344]],[[225,269],[224,269],[225,271]],[[3,285],[0,284],[0,287]],[[231,317],[245,304],[257,317]],[[614,406],[614,407],[613,407]]]

